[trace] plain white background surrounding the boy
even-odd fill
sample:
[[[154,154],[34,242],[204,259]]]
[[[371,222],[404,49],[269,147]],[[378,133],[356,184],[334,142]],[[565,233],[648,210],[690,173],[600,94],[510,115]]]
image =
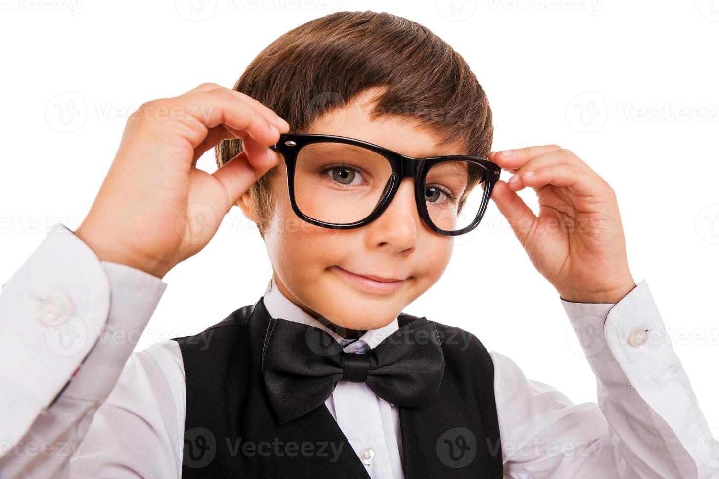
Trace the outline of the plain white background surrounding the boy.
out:
[[[719,427],[719,1],[0,0],[0,282],[53,223],[91,206],[143,101],[232,88],[273,39],[337,10],[429,27],[475,71],[494,149],[556,143],[617,192],[646,279],[710,427]],[[198,164],[214,170],[212,152]],[[508,180],[506,172],[503,179]],[[536,212],[536,196],[521,196]],[[193,334],[265,292],[270,263],[239,208],[169,286],[138,349]],[[595,379],[549,282],[494,203],[406,312],[464,327],[575,402]],[[717,434],[715,434],[717,435]]]

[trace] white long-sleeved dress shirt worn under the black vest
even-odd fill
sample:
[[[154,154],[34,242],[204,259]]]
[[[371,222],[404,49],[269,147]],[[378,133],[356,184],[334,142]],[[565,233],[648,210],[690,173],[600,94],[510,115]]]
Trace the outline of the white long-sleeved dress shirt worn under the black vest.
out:
[[[47,234],[0,294],[0,478],[180,477],[178,343],[133,353],[134,342],[106,339],[137,338],[165,287],[99,261],[63,225]],[[597,378],[598,404],[572,404],[491,352],[505,477],[719,477],[719,445],[646,281],[617,304],[560,301]],[[327,330],[271,279],[265,306]],[[395,318],[344,350],[362,353],[397,328]],[[346,381],[325,404],[370,477],[403,478],[396,406]]]

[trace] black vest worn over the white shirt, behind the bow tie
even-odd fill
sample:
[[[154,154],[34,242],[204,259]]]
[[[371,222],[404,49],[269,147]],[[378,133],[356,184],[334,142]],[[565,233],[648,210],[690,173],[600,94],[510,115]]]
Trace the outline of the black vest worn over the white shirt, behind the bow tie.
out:
[[[186,382],[183,478],[368,478],[322,404],[278,424],[262,379],[270,315],[260,298],[180,343]],[[416,320],[400,313],[399,326]],[[469,332],[435,322],[439,391],[399,407],[407,479],[502,478],[492,358]]]

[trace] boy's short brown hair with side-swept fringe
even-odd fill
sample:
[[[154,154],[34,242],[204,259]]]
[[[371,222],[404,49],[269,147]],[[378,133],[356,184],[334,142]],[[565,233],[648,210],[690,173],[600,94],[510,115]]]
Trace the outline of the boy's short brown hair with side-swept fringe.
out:
[[[487,96],[464,59],[421,24],[375,11],[339,11],[290,30],[262,50],[234,85],[285,118],[290,132],[340,108],[363,90],[382,87],[370,119],[405,116],[428,126],[438,143],[458,143],[486,158],[493,124]],[[221,141],[218,167],[242,152]],[[273,214],[270,180],[281,163],[249,189],[260,236]],[[479,171],[470,172],[477,185]],[[459,206],[464,201],[460,198]]]

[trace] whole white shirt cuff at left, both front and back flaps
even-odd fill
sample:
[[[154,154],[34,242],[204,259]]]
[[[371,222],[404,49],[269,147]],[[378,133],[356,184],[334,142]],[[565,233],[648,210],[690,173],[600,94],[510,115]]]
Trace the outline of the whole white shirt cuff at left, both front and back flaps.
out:
[[[60,396],[103,401],[166,287],[99,261],[73,231],[53,226],[0,294],[0,350],[12,359],[0,368],[0,410],[12,412],[0,440],[24,437]]]

